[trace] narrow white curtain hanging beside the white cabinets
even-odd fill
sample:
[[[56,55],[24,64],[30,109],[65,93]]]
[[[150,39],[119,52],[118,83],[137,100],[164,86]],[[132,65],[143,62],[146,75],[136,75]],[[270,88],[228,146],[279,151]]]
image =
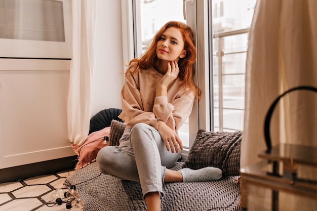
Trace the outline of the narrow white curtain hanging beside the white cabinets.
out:
[[[68,96],[68,137],[81,145],[89,133],[94,70],[95,0],[72,0],[72,60]]]

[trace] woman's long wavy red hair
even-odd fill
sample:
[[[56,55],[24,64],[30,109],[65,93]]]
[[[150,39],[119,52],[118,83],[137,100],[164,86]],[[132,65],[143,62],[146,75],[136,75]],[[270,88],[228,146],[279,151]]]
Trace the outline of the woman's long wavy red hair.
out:
[[[170,27],[177,28],[182,34],[184,40],[184,50],[186,50],[186,56],[180,58],[178,61],[179,74],[178,77],[183,81],[185,88],[189,88],[195,93],[195,97],[200,99],[201,91],[193,82],[195,69],[194,62],[196,61],[197,51],[194,46],[193,31],[186,24],[178,21],[167,22],[152,38],[152,42],[146,52],[139,58],[132,59],[129,63],[129,68],[126,73],[135,73],[136,71],[146,70],[159,63],[159,58],[156,55],[156,44],[164,31]],[[138,68],[131,68],[138,66]],[[132,71],[133,70],[133,71]]]

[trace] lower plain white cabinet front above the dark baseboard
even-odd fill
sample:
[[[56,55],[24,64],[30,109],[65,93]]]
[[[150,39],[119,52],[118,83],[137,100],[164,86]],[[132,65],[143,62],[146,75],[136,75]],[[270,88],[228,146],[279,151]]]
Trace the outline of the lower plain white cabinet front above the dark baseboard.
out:
[[[75,155],[69,67],[70,60],[0,59],[0,169]]]

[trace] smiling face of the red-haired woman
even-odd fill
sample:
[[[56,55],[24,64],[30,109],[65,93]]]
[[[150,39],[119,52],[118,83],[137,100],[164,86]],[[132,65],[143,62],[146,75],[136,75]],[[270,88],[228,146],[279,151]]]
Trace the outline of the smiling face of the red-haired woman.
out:
[[[176,61],[186,56],[184,40],[177,28],[166,29],[156,44],[156,55],[165,61]]]

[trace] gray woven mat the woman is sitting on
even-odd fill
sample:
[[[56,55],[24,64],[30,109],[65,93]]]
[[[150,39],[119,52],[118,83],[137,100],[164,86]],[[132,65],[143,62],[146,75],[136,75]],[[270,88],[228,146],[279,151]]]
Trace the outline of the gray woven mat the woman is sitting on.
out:
[[[173,170],[179,170],[183,162],[177,162]],[[165,183],[162,199],[163,211],[187,210],[239,210],[240,186],[237,177],[224,177],[213,182]],[[85,211],[145,211],[138,182],[122,181],[101,174],[96,162],[66,178],[65,186],[76,186],[84,200]]]

